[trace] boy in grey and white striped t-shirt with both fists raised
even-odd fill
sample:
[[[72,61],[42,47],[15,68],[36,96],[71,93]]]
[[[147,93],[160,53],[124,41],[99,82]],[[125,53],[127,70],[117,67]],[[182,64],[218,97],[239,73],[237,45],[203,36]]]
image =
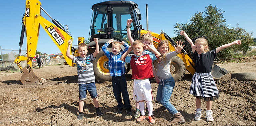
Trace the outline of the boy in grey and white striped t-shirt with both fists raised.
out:
[[[98,94],[95,86],[95,77],[93,72],[92,61],[96,59],[97,54],[99,53],[99,43],[98,38],[94,38],[96,43],[96,49],[94,53],[89,56],[86,56],[88,50],[87,45],[80,43],[78,45],[78,53],[80,56],[75,57],[70,54],[70,46],[72,40],[68,41],[68,47],[66,56],[72,60],[73,63],[77,64],[77,74],[78,74],[78,84],[79,84],[79,115],[77,119],[83,119],[83,104],[86,99],[86,92],[91,95],[94,105],[96,107],[96,112],[99,116],[103,115],[102,111],[99,109]]]

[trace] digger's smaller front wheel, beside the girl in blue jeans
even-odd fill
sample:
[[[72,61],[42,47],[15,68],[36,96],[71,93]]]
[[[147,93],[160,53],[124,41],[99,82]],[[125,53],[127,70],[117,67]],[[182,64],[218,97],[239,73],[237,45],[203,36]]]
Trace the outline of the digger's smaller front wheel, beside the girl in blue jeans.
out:
[[[171,61],[172,63],[170,65],[170,71],[173,73],[173,78],[175,82],[180,81],[185,74],[185,64],[183,60],[178,56],[172,57]]]

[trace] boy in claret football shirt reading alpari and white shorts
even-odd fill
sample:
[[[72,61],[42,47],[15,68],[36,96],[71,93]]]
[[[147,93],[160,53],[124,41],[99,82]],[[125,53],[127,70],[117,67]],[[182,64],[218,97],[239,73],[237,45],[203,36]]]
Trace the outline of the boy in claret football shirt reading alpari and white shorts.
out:
[[[131,63],[132,79],[134,79],[133,99],[139,102],[141,111],[141,116],[136,120],[136,122],[141,122],[146,118],[144,111],[145,100],[149,110],[149,121],[151,124],[154,124],[155,119],[153,116],[152,104],[153,95],[149,78],[154,77],[152,61],[156,60],[161,54],[157,50],[152,49],[149,45],[145,45],[145,48],[148,48],[154,54],[143,54],[144,44],[141,40],[136,40],[120,59],[124,62]],[[127,57],[131,50],[133,50],[135,55]]]

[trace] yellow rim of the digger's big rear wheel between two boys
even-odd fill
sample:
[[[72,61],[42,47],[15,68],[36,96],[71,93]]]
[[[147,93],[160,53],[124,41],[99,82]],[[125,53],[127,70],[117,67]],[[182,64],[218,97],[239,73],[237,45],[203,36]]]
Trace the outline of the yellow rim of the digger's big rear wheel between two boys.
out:
[[[101,74],[109,75],[108,58],[106,56],[102,56],[99,58],[97,62],[97,69]]]

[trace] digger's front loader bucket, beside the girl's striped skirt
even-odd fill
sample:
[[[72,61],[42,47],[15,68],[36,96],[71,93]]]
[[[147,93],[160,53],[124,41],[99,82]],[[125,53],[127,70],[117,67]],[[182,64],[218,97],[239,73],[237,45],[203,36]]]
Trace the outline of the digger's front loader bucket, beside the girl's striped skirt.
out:
[[[228,73],[229,72],[226,69],[220,68],[219,66],[217,66],[216,64],[213,63],[212,69],[211,69],[211,74],[214,79],[219,79]]]

